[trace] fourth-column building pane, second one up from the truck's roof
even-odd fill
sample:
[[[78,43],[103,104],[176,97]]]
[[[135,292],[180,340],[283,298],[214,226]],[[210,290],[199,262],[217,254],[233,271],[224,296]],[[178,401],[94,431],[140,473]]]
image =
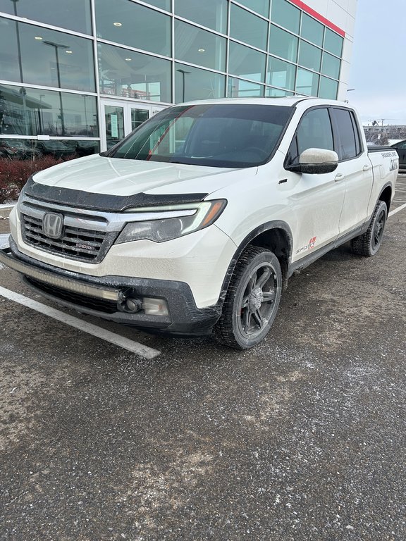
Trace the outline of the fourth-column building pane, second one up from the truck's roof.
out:
[[[262,82],[265,77],[266,56],[244,45],[230,42],[228,73]]]

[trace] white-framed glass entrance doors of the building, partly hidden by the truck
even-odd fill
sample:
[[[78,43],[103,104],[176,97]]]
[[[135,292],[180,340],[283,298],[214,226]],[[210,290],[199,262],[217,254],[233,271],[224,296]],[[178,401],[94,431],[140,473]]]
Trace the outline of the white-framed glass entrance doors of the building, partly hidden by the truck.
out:
[[[165,107],[103,99],[101,108],[101,150],[104,151]]]

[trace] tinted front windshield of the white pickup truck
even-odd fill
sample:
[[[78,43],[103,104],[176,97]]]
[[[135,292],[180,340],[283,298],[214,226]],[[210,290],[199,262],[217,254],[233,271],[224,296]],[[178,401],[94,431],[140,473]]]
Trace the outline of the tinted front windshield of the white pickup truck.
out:
[[[273,154],[292,111],[266,104],[171,107],[104,156],[211,167],[258,166]]]

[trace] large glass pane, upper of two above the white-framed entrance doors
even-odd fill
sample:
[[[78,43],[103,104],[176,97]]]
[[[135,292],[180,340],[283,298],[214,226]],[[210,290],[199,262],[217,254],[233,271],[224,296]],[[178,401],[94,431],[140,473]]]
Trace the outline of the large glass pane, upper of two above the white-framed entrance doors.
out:
[[[97,0],[97,37],[171,56],[171,17],[130,0]]]

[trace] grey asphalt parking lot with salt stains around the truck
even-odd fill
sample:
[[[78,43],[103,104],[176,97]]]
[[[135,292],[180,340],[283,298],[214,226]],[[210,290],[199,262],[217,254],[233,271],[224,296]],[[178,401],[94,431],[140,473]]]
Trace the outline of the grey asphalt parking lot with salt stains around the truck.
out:
[[[379,254],[294,276],[242,353],[75,328],[0,268],[0,538],[404,541],[405,203],[400,176]]]

